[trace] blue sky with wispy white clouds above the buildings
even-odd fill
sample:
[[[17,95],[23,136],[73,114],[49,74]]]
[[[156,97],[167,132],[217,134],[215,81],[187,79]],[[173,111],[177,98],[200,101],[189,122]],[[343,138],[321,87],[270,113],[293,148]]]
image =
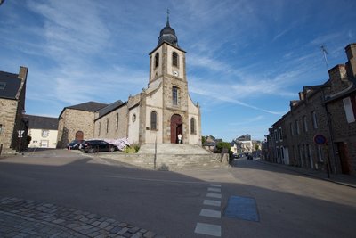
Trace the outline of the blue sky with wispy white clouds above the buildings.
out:
[[[125,102],[148,86],[149,53],[167,9],[187,52],[202,135],[226,142],[246,134],[263,140],[303,86],[327,81],[356,42],[354,0],[6,0],[0,70],[28,67],[30,115]]]

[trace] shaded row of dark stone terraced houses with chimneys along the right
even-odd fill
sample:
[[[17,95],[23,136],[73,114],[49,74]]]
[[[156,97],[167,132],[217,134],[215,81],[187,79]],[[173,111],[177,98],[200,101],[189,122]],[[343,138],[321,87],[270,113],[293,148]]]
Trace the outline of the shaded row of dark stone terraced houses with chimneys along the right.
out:
[[[348,62],[328,70],[324,84],[304,86],[272,125],[264,160],[356,175],[356,44],[345,50]]]

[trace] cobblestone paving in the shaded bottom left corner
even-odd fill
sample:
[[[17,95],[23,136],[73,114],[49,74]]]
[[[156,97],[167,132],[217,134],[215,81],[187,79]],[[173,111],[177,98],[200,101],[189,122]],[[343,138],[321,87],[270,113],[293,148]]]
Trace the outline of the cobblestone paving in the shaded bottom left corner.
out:
[[[159,236],[109,217],[53,204],[0,198],[0,237],[145,237]]]

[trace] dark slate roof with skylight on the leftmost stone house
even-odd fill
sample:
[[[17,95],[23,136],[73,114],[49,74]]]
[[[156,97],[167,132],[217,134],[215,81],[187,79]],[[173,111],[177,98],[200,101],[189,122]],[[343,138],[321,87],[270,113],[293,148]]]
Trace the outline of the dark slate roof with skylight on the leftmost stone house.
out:
[[[17,74],[0,71],[0,86],[4,86],[4,89],[0,87],[0,98],[16,99],[20,85],[21,79]]]

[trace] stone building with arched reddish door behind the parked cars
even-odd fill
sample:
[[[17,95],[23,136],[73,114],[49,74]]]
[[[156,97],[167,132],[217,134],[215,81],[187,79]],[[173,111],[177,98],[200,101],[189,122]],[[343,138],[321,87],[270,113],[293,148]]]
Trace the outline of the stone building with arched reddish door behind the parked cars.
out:
[[[57,147],[64,148],[75,139],[93,138],[95,112],[106,106],[108,104],[87,102],[65,107],[58,117]]]

